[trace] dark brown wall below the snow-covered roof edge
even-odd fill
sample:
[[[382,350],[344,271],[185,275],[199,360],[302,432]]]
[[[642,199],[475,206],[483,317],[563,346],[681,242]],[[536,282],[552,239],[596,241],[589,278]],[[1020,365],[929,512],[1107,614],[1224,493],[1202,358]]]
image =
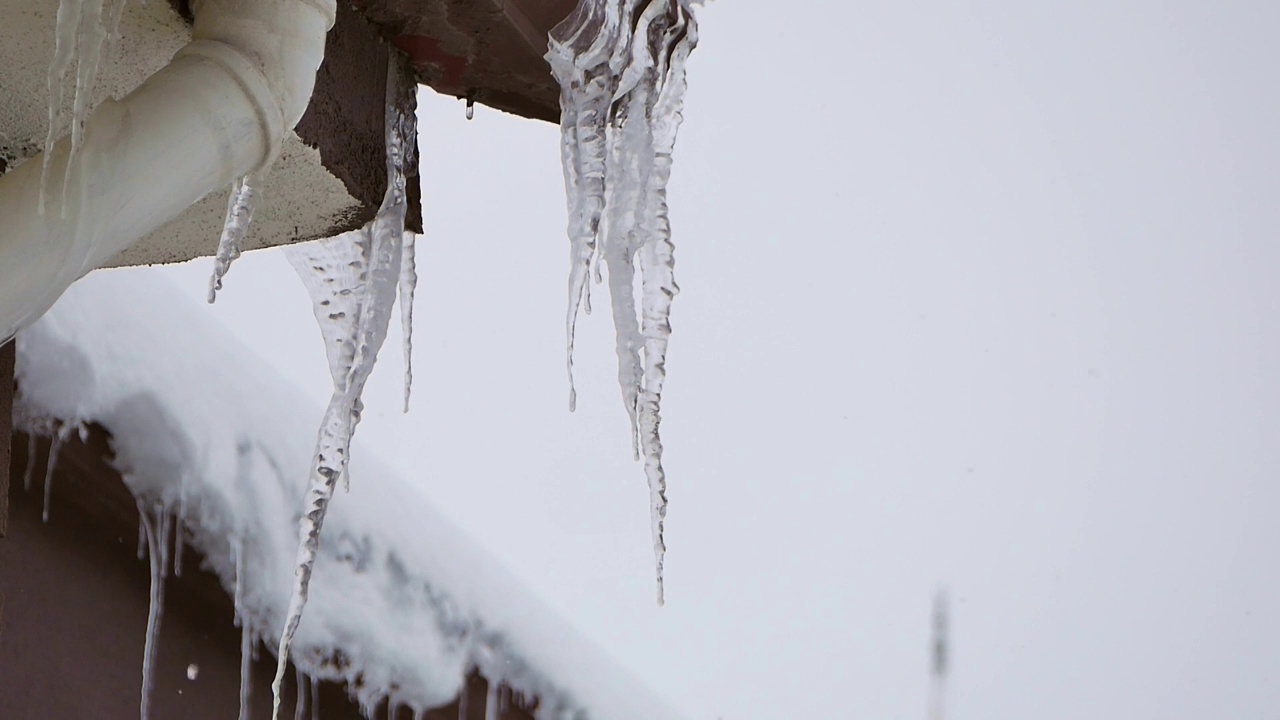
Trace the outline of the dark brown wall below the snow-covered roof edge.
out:
[[[5,415],[8,416],[8,415]],[[138,716],[150,574],[137,559],[137,510],[104,461],[106,433],[73,433],[54,478],[50,523],[41,521],[49,443],[37,445],[33,487],[23,491],[27,436],[12,436],[10,532],[0,539],[0,719],[125,720]],[[227,720],[239,707],[239,630],[218,579],[186,548],[182,578],[165,584],[152,694],[154,719]],[[187,666],[200,667],[195,680]],[[253,664],[252,717],[270,716],[275,660]],[[284,717],[293,717],[293,674]],[[472,675],[466,720],[483,720],[486,683]],[[376,717],[385,717],[380,710]],[[343,688],[325,684],[320,717],[360,717]],[[407,720],[408,711],[399,714]],[[458,703],[428,714],[458,719]],[[531,720],[509,706],[502,720]]]

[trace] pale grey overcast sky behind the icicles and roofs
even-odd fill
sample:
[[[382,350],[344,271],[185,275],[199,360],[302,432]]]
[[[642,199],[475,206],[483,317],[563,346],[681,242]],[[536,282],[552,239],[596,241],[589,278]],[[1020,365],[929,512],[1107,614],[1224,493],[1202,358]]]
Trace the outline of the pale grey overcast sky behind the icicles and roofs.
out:
[[[667,607],[608,313],[567,411],[557,128],[424,92],[413,409],[393,329],[364,446],[692,720],[923,717],[940,585],[948,717],[1276,717],[1280,4],[700,18]],[[279,252],[210,313],[328,398]]]

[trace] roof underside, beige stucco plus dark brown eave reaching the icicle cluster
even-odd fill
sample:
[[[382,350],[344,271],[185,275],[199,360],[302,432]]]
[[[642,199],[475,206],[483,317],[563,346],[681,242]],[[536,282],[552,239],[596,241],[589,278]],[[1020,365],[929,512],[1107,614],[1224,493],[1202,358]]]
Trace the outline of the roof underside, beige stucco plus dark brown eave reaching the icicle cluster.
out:
[[[187,0],[127,3],[119,41],[102,56],[96,105],[123,97],[191,40]],[[35,156],[49,127],[47,73],[60,0],[0,0],[0,174]],[[332,237],[367,223],[387,179],[384,104],[392,46],[420,82],[527,118],[556,122],[558,90],[547,33],[575,0],[357,0],[338,3],[315,94],[268,176],[242,250]],[[412,95],[412,94],[410,94]],[[69,117],[64,97],[60,117]],[[60,122],[65,131],[65,120]],[[410,178],[407,228],[421,232]],[[211,193],[109,265],[174,263],[212,255],[227,210]]]

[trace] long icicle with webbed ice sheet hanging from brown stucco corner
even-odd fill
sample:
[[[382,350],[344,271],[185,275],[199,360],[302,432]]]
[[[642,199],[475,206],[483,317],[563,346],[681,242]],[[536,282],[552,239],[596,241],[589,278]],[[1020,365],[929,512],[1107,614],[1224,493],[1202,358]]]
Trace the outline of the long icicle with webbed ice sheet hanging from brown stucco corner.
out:
[[[387,340],[401,281],[407,211],[406,160],[416,149],[416,127],[413,114],[399,108],[412,102],[412,96],[401,94],[412,92],[413,87],[401,83],[394,55],[388,63],[387,79],[387,193],[378,214],[355,233],[285,249],[289,263],[311,295],[334,389],[316,437],[315,460],[298,523],[293,592],[271,683],[273,720],[279,717],[289,644],[306,607],[325,511],[338,479],[347,474],[351,438],[364,409],[361,393]]]

